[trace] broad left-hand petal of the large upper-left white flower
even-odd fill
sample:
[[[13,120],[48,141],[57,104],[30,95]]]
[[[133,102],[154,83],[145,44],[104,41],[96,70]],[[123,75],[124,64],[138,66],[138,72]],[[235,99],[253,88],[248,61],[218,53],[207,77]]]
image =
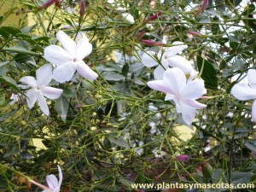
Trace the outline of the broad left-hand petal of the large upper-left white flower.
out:
[[[44,59],[56,66],[61,66],[67,62],[73,61],[72,55],[57,45],[49,45],[44,49]]]

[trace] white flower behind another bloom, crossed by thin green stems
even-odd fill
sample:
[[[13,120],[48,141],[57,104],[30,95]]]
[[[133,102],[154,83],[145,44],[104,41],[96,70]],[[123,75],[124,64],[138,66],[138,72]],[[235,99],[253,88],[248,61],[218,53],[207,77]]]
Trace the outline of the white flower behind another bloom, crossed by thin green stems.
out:
[[[170,67],[178,67],[185,74],[190,74],[195,71],[190,61],[188,61],[182,55],[177,55],[188,46],[178,41],[173,42],[172,45],[172,47],[168,47],[166,49],[161,48],[160,51],[157,53],[154,51],[146,51],[145,53],[143,53],[141,59],[144,66],[157,66],[154,70],[154,79],[163,79],[163,74],[165,73],[166,69]],[[155,59],[155,57],[157,59]]]

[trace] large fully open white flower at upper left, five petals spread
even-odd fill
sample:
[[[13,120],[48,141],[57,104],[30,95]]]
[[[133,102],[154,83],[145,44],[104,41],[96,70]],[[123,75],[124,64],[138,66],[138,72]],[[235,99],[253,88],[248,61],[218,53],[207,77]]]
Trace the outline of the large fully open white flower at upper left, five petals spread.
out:
[[[83,59],[90,55],[92,45],[86,36],[76,44],[65,32],[57,32],[56,38],[61,42],[58,45],[49,45],[44,49],[44,58],[56,67],[53,71],[53,79],[60,83],[69,81],[77,71],[86,79],[95,80],[98,74],[88,67]]]

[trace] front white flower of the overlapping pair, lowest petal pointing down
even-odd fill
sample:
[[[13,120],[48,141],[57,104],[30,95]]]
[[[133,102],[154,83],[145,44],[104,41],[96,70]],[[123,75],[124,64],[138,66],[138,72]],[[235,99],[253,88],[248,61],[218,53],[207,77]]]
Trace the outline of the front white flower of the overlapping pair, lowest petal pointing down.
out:
[[[195,118],[196,109],[207,107],[207,105],[195,101],[205,91],[204,81],[202,79],[187,81],[183,71],[177,67],[167,69],[163,80],[149,81],[148,86],[154,90],[165,92],[165,100],[175,102],[177,113],[182,113],[183,120],[187,125],[190,125]]]

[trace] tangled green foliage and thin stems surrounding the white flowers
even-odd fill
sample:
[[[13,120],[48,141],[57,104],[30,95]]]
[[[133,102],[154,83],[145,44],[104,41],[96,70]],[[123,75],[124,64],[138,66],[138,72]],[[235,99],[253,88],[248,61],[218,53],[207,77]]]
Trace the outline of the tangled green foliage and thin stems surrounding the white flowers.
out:
[[[137,191],[132,183],[255,183],[252,101],[230,94],[255,69],[255,3],[214,0],[201,10],[197,0],[84,2],[84,15],[78,1],[39,9],[47,1],[20,0],[0,16],[0,190],[41,191],[27,177],[45,183],[58,174],[56,165],[67,192]],[[4,22],[13,13],[19,26]],[[93,50],[84,62],[99,77],[52,80],[63,93],[47,100],[48,117],[38,104],[28,108],[18,84],[49,63],[44,49],[59,44],[60,30],[73,39],[86,33]],[[142,41],[162,43],[164,37],[164,46]],[[199,100],[207,108],[197,111],[188,139],[179,137],[186,126],[175,103],[147,86],[154,70],[141,58],[175,41],[188,45],[182,55],[207,88]],[[178,154],[189,160],[178,161]]]

